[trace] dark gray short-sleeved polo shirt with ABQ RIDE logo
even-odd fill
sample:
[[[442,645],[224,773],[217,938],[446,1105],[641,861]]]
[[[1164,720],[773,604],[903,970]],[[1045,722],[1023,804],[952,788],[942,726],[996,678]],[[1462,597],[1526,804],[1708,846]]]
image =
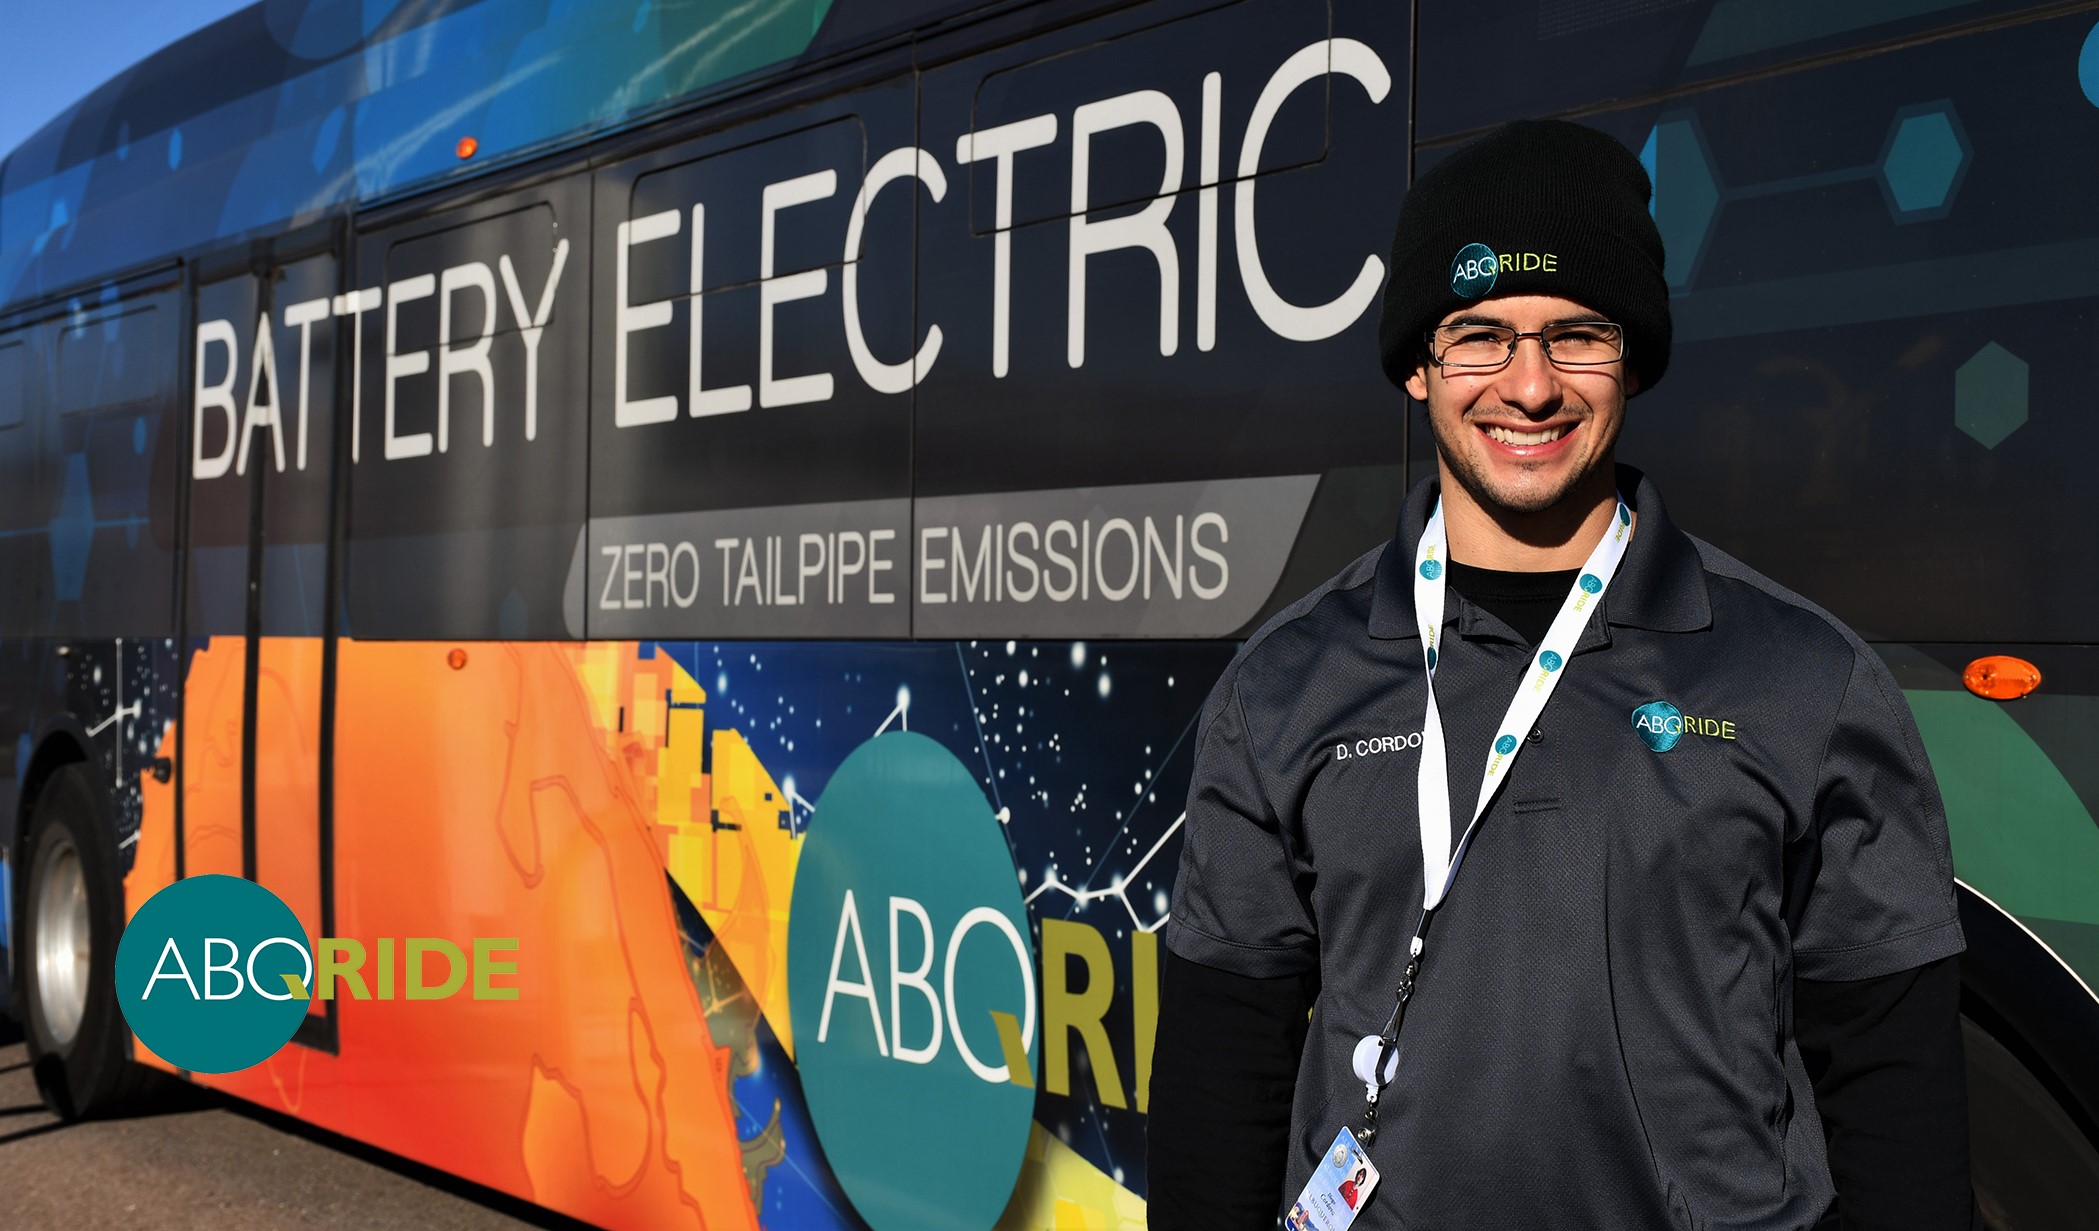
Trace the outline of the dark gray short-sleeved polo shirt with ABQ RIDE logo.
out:
[[[1937,784],[1887,668],[1677,529],[1637,471],[1618,483],[1633,542],[1429,929],[1358,1229],[1805,1229],[1832,1189],[1793,979],[1963,947]],[[1278,1199],[1362,1124],[1350,1052],[1392,1010],[1421,910],[1411,573],[1432,500],[1415,487],[1394,542],[1247,641],[1196,739],[1167,945],[1320,973]],[[1448,607],[1463,828],[1530,647]]]

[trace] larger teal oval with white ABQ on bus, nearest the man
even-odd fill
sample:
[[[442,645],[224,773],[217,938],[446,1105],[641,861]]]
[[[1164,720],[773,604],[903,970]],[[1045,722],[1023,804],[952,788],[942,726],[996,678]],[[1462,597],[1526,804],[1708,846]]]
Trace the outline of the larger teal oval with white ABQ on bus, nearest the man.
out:
[[[1014,855],[970,769],[911,731],[861,744],[810,815],[787,920],[796,1069],[852,1208],[873,1231],[984,1231],[1035,1124],[1037,983]]]

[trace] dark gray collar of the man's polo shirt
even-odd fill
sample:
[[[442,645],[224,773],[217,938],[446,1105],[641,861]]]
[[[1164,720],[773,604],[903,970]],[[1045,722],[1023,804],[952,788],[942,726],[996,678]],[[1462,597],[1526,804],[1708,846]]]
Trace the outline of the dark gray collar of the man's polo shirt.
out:
[[[1604,592],[1602,616],[1620,628],[1654,632],[1696,632],[1713,624],[1713,603],[1706,597],[1704,563],[1698,544],[1669,521],[1662,494],[1633,466],[1618,466],[1618,492],[1639,515],[1633,542],[1625,548],[1618,576]],[[1415,552],[1436,506],[1436,477],[1415,483],[1400,508],[1400,525],[1377,561],[1377,582],[1371,594],[1371,637],[1421,637],[1415,626]],[[1450,616],[1446,613],[1446,620]],[[1583,643],[1597,639],[1597,630]]]

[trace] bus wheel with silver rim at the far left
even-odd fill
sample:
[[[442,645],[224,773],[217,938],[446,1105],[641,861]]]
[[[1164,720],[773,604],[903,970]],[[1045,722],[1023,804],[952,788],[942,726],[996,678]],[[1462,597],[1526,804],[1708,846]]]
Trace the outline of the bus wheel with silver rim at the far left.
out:
[[[21,1019],[36,1088],[63,1120],[134,1109],[157,1088],[157,1073],[132,1063],[130,1027],[118,1008],[124,886],[115,834],[103,821],[101,794],[84,765],[59,767],[44,781],[21,868]],[[40,910],[46,895],[55,903],[84,899],[78,912],[86,920],[84,987],[65,960],[78,954],[80,929],[71,922],[78,914]]]

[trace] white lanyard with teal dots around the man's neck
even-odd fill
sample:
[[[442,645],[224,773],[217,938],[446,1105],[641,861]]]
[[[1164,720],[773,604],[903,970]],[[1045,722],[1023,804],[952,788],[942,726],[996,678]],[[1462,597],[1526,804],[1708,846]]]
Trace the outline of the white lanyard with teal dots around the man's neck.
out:
[[[1545,712],[1545,702],[1553,700],[1553,689],[1560,687],[1560,676],[1566,674],[1568,660],[1574,658],[1574,643],[1581,641],[1581,630],[1589,624],[1595,603],[1610,588],[1610,578],[1616,576],[1631,538],[1633,513],[1620,496],[1616,517],[1610,519],[1610,529],[1604,531],[1604,538],[1589,552],[1589,561],[1568,588],[1568,597],[1560,601],[1553,626],[1545,632],[1545,641],[1539,643],[1539,653],[1530,660],[1522,683],[1515,685],[1515,697],[1509,700],[1509,710],[1494,729],[1494,739],[1486,750],[1486,769],[1480,771],[1480,802],[1473,805],[1471,821],[1467,821],[1465,834],[1457,842],[1457,853],[1453,853],[1450,767],[1444,756],[1442,714],[1436,710],[1436,639],[1442,632],[1444,567],[1450,559],[1444,538],[1442,500],[1436,502],[1436,510],[1421,531],[1421,546],[1415,555],[1415,624],[1421,628],[1421,664],[1427,670],[1425,683],[1429,695],[1427,714],[1421,721],[1421,765],[1415,779],[1415,802],[1421,823],[1421,920],[1415,924],[1406,973],[1400,977],[1396,992],[1398,1004],[1392,1006],[1385,1029],[1364,1036],[1352,1057],[1352,1067],[1362,1080],[1369,1099],[1360,1132],[1364,1145],[1377,1139],[1377,1094],[1398,1076],[1400,1021],[1406,1015],[1406,1002],[1415,994],[1415,975],[1421,971],[1421,947],[1429,916],[1442,905],[1444,895],[1450,893],[1450,884],[1457,882],[1457,870],[1465,863],[1465,849],[1471,847],[1471,834],[1480,828],[1480,817],[1494,802],[1494,792],[1501,790],[1501,784],[1509,779],[1509,767],[1515,765],[1526,735],[1539,721],[1539,714]]]

